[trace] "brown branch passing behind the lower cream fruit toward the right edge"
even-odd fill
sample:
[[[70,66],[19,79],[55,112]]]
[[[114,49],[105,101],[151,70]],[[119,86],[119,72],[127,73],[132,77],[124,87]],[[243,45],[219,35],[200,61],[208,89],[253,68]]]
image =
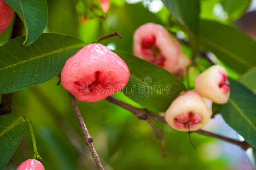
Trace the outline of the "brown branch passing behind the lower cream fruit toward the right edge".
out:
[[[106,98],[108,101],[118,105],[118,106],[121,106],[123,107],[124,109],[126,110],[129,110],[131,111],[135,116],[137,116],[139,119],[154,119],[154,120],[157,120],[157,121],[161,121],[161,122],[164,122],[166,123],[166,121],[164,120],[164,117],[160,116],[160,115],[156,115],[156,114],[153,114],[145,109],[140,109],[140,108],[136,108],[136,107],[133,107],[127,103],[124,103],[122,102],[121,100],[118,100],[116,99],[115,97],[113,96],[109,96]],[[248,148],[254,148],[256,149],[255,147],[253,147],[252,145],[250,145],[248,142],[246,141],[238,141],[238,140],[235,140],[235,139],[231,139],[231,138],[227,138],[227,137],[224,137],[224,136],[221,136],[221,135],[218,135],[218,134],[215,134],[215,133],[212,133],[212,132],[208,132],[208,131],[204,131],[202,129],[198,130],[198,131],[194,131],[196,133],[199,133],[199,134],[202,134],[202,135],[206,135],[206,136],[210,136],[210,137],[214,137],[214,138],[218,138],[220,140],[223,140],[223,141],[226,141],[226,142],[229,142],[229,143],[232,143],[232,144],[235,144],[235,145],[238,145],[240,146],[241,148],[243,148],[244,150],[248,149]]]

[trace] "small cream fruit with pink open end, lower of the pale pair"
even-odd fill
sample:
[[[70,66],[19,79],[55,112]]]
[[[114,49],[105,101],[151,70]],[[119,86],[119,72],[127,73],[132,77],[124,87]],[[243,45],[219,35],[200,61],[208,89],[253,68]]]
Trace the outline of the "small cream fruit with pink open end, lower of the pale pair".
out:
[[[165,113],[167,124],[178,131],[196,131],[210,120],[210,111],[194,91],[178,96]]]

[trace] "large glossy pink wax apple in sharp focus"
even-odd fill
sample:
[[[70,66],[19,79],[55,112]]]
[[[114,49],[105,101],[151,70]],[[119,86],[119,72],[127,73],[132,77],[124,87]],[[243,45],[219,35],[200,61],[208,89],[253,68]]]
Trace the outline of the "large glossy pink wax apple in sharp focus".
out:
[[[89,44],[66,61],[61,83],[78,100],[96,102],[123,89],[129,77],[126,63],[116,53]]]

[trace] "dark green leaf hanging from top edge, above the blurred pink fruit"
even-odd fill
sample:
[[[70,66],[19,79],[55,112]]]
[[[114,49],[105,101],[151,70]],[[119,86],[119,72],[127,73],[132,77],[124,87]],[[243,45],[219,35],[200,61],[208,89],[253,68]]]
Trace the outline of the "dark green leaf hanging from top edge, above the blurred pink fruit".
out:
[[[197,34],[200,13],[199,0],[162,0],[162,2],[181,24],[187,25],[194,34]]]

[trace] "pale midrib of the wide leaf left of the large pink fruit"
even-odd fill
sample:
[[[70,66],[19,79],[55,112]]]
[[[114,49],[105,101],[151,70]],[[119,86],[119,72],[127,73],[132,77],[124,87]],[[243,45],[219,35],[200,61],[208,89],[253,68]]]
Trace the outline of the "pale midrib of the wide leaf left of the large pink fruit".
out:
[[[45,57],[45,56],[47,56],[47,55],[52,55],[52,54],[54,54],[54,53],[62,52],[62,51],[65,51],[65,50],[68,50],[68,49],[72,49],[72,48],[83,47],[83,46],[84,46],[84,44],[81,43],[81,44],[76,44],[76,45],[72,45],[72,46],[68,46],[68,47],[63,47],[63,48],[60,48],[60,49],[58,49],[58,50],[54,50],[54,51],[52,51],[52,52],[45,53],[45,54],[42,54],[42,55],[39,55],[39,56],[30,58],[30,59],[28,59],[28,60],[23,60],[23,61],[20,61],[20,62],[18,62],[18,63],[15,63],[15,64],[12,64],[12,65],[9,65],[9,66],[0,68],[0,71],[1,71],[1,70],[4,70],[4,69],[7,69],[7,68],[9,68],[9,67],[13,67],[13,66],[16,66],[16,65],[25,63],[25,62],[29,62],[29,61],[32,61],[32,60],[40,59],[40,58]]]

